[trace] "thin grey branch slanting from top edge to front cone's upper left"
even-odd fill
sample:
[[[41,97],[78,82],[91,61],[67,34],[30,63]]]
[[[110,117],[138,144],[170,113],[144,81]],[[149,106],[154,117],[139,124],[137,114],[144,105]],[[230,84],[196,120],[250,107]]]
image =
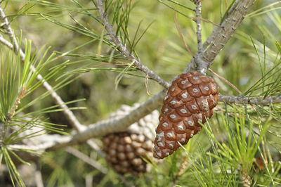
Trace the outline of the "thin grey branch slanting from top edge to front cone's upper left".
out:
[[[117,49],[123,54],[123,56],[125,56],[127,60],[131,61],[133,65],[136,65],[138,70],[141,70],[145,73],[145,75],[148,75],[149,78],[154,79],[160,85],[164,86],[164,88],[168,89],[168,82],[165,82],[164,79],[155,74],[155,72],[152,72],[152,70],[143,65],[143,63],[141,63],[141,60],[137,59],[136,56],[134,56],[129,51],[129,49],[127,49],[126,46],[122,44],[120,37],[115,34],[112,25],[110,25],[110,23],[108,22],[107,15],[103,8],[103,1],[95,0],[95,2],[96,8],[98,9],[98,13],[100,14],[100,20],[103,22],[103,25],[105,25],[105,30],[107,30],[107,33],[110,35],[112,42],[117,46]]]

